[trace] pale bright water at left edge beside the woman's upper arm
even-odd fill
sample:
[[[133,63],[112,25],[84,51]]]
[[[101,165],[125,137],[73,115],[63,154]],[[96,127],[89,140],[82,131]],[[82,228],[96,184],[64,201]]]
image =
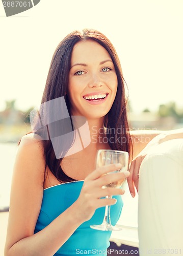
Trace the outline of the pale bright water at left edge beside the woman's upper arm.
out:
[[[0,211],[9,206],[16,143],[0,143]]]

